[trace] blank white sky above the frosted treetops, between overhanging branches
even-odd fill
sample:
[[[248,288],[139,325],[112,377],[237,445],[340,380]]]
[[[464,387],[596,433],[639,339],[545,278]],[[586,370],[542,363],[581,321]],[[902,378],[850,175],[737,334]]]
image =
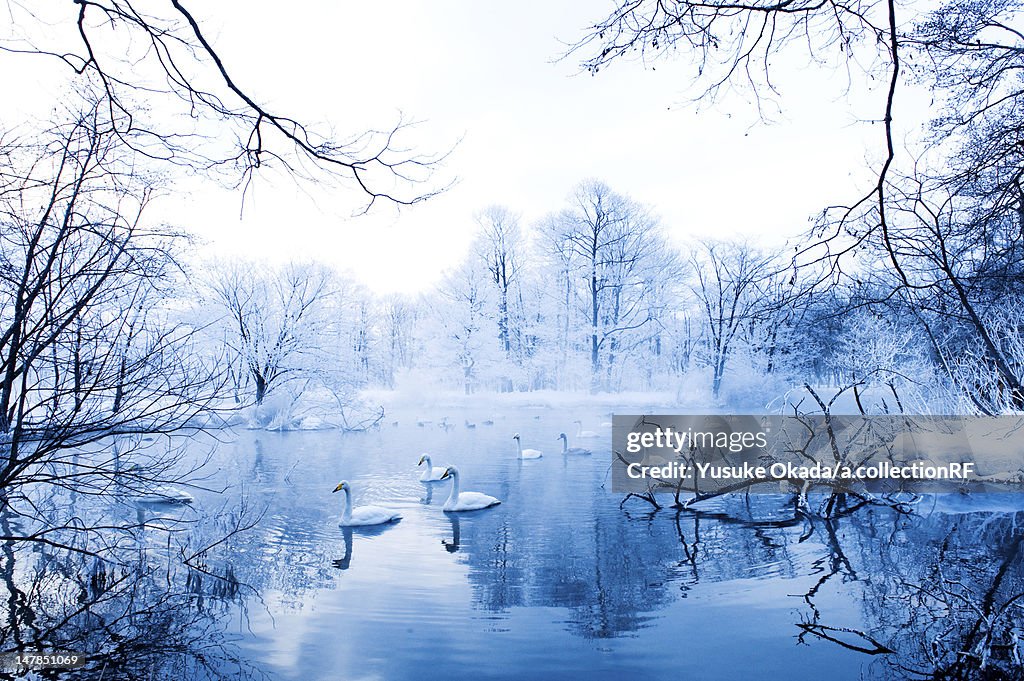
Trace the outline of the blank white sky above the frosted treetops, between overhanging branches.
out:
[[[199,233],[206,255],[324,260],[387,293],[421,290],[456,265],[475,211],[504,204],[528,226],[588,177],[650,205],[684,247],[695,237],[796,237],[823,206],[866,188],[882,129],[862,119],[881,116],[878,92],[852,107],[842,70],[794,72],[778,81],[782,114],[764,124],[740,97],[689,104],[685,57],[596,77],[579,59],[558,61],[606,6],[197,4],[236,81],[270,109],[342,134],[387,126],[400,111],[423,122],[408,142],[426,152],[458,142],[438,173],[458,181],[427,203],[352,217],[353,191],[271,176],[243,207],[237,191],[183,178],[154,210]]]

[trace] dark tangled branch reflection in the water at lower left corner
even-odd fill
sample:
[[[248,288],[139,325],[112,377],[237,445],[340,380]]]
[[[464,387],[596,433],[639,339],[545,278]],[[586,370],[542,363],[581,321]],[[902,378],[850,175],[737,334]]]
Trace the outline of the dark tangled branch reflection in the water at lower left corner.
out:
[[[0,515],[5,536],[11,524],[9,514]],[[167,560],[145,547],[144,531],[138,528],[135,550],[102,557],[44,544],[0,545],[0,651],[86,655],[83,669],[60,678],[259,677],[223,633],[224,616],[243,596],[229,564],[207,564],[212,551],[182,552],[195,567]]]

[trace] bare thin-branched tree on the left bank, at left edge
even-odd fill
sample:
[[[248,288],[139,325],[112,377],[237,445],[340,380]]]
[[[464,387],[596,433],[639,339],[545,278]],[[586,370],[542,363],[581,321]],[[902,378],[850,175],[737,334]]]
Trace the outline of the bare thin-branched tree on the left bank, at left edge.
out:
[[[93,555],[129,527],[41,500],[179,479],[178,450],[139,435],[194,427],[220,387],[177,315],[183,238],[147,224],[156,178],[109,115],[0,150],[0,516],[19,516],[10,541]]]

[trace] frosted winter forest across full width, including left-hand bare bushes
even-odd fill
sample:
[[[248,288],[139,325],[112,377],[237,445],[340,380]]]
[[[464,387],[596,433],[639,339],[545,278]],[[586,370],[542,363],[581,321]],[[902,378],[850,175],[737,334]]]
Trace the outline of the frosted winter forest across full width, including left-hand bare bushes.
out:
[[[467,216],[468,255],[438,286],[379,296],[314,262],[186,258],[187,235],[142,226],[153,189],[118,177],[127,161],[100,115],[12,154],[47,203],[35,209],[43,216],[19,213],[20,195],[8,207],[25,225],[6,235],[6,309],[22,301],[25,316],[8,324],[35,321],[6,336],[8,422],[85,402],[117,414],[126,392],[146,399],[165,372],[187,388],[182,406],[268,405],[253,418],[285,429],[310,403],[352,426],[345,412],[360,412],[360,390],[403,383],[467,395],[668,391],[755,410],[810,384],[873,391],[872,409],[894,412],[1021,407],[1013,287],[1024,194],[1016,180],[1004,186],[1000,168],[963,171],[972,196],[936,206],[942,195],[894,188],[885,230],[834,232],[825,214],[776,250],[711,240],[680,249],[653,207],[584,180],[537,224],[504,206]],[[128,216],[105,212],[128,201]],[[14,357],[37,346],[23,372]],[[34,377],[25,392],[19,375]]]

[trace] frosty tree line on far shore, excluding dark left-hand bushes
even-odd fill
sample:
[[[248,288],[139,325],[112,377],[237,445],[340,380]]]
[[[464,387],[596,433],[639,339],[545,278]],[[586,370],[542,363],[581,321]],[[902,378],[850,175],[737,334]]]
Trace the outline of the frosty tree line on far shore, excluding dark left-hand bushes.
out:
[[[839,241],[813,232],[775,250],[678,243],[653,208],[598,180],[529,224],[504,206],[473,219],[464,260],[416,297],[374,296],[319,265],[214,268],[205,295],[221,315],[236,400],[261,402],[273,386],[350,396],[408,381],[764,407],[810,384],[851,390],[861,409],[865,391],[892,411],[1019,407],[1004,376],[1022,359],[1008,295],[1019,259],[953,249],[958,227],[892,230],[901,261],[922,261],[906,286],[882,242],[839,264],[821,255]]]

